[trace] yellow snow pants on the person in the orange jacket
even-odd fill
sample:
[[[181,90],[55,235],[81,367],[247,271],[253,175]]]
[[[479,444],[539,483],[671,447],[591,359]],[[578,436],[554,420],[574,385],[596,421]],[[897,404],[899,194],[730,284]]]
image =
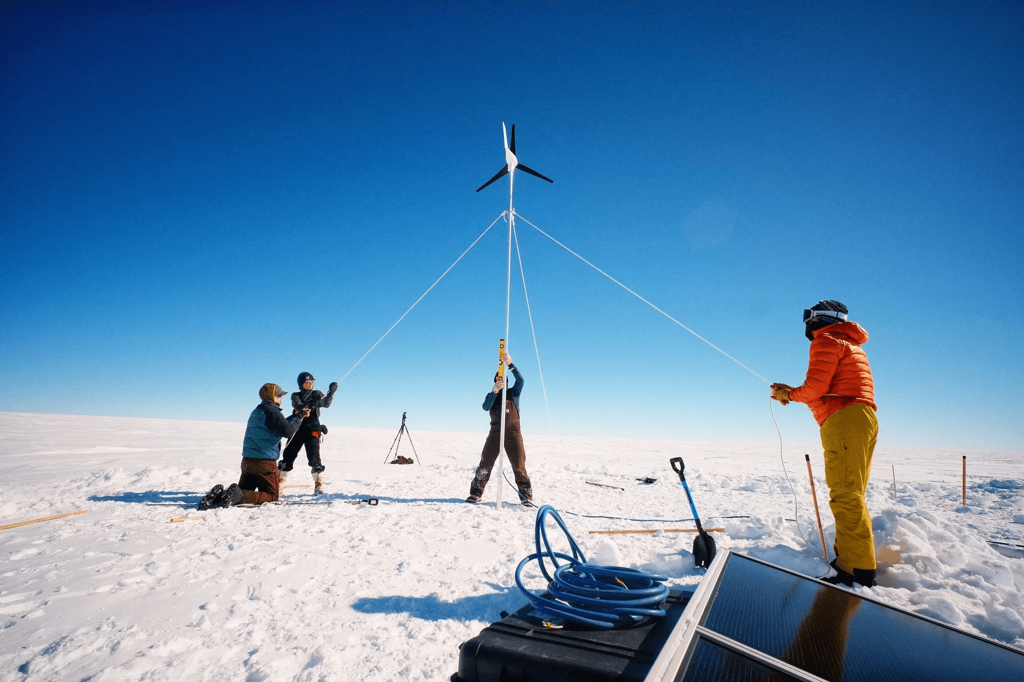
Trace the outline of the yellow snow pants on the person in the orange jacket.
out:
[[[878,438],[874,411],[863,402],[848,404],[821,425],[828,506],[836,519],[836,566],[848,573],[854,568],[876,568],[871,516],[864,493]]]

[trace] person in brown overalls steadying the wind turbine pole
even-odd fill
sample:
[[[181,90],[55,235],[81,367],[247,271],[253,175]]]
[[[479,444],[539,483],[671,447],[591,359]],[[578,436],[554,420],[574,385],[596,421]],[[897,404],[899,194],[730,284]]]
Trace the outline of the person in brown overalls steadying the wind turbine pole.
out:
[[[522,392],[523,379],[519,370],[512,364],[508,352],[502,353],[503,367],[507,366],[515,378],[515,383],[506,388],[502,372],[495,374],[495,385],[483,398],[483,409],[490,414],[490,432],[483,443],[480,454],[480,464],[476,467],[476,475],[469,485],[469,497],[466,502],[479,502],[483,497],[483,488],[490,479],[490,470],[498,461],[499,443],[502,436],[502,403],[505,407],[505,454],[512,465],[515,484],[519,488],[522,504],[530,506],[534,499],[534,488],[526,473],[526,449],[522,443],[522,432],[519,429],[519,394]],[[499,393],[505,391],[505,400],[499,398]],[[501,485],[501,481],[498,482]]]

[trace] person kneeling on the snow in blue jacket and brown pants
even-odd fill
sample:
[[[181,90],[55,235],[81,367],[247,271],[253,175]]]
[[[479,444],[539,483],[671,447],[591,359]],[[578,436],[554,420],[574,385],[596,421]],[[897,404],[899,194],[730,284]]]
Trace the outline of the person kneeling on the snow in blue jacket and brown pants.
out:
[[[287,394],[278,384],[263,384],[259,389],[262,401],[249,415],[242,441],[242,476],[227,489],[219,483],[214,485],[199,503],[200,509],[278,501],[281,479],[276,460],[281,457],[281,439],[291,438],[309,416],[306,408],[285,419],[281,396]]]

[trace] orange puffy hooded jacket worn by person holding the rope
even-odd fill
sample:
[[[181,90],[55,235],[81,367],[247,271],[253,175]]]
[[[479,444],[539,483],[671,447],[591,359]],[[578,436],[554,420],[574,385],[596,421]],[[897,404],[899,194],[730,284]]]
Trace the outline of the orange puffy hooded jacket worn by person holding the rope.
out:
[[[861,344],[867,332],[852,322],[838,323],[814,332],[811,360],[803,386],[790,391],[790,399],[806,402],[820,426],[854,402],[874,404],[874,381]]]

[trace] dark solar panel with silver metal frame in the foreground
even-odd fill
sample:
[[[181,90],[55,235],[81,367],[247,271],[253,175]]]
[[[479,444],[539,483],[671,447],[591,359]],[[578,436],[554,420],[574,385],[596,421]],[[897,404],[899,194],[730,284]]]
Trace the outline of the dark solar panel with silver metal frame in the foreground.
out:
[[[1024,680],[1024,652],[731,552],[709,568],[648,682]]]

